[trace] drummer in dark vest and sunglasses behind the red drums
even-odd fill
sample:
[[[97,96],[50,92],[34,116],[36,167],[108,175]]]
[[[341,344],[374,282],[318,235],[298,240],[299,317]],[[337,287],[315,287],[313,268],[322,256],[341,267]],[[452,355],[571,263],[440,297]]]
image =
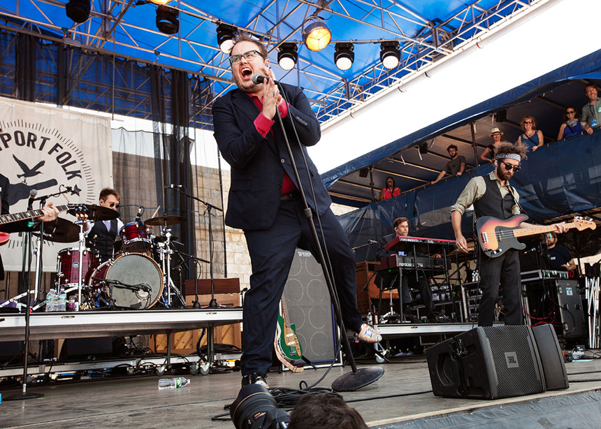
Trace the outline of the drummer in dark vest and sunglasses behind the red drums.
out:
[[[117,210],[120,199],[121,197],[115,189],[104,188],[100,191],[99,205]],[[85,221],[83,231],[86,235],[86,247],[98,250],[101,261],[113,258],[115,241],[122,227],[123,222],[119,218],[110,221]]]

